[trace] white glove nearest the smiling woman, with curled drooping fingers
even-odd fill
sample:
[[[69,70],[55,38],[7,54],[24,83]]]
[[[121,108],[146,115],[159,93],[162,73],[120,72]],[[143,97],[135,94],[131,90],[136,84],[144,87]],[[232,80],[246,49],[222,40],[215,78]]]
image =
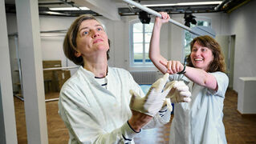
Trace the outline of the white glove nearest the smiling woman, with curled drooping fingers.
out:
[[[172,81],[166,84],[164,91],[169,91],[166,98],[171,98],[172,102],[190,102],[191,93],[189,86],[183,81]]]

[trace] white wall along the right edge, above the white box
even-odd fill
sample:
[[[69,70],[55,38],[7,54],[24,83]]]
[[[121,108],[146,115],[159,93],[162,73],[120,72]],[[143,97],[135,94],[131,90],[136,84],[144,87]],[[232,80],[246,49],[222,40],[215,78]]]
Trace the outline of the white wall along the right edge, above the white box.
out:
[[[230,14],[230,34],[236,35],[234,54],[234,90],[238,91],[240,77],[256,75],[256,1]]]

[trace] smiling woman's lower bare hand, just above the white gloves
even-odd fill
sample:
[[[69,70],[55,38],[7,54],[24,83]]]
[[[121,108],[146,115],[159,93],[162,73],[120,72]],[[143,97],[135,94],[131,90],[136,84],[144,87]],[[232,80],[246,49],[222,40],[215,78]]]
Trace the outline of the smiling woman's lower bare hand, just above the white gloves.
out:
[[[160,63],[167,68],[166,73],[169,74],[176,74],[184,69],[184,66],[180,61],[160,61]]]

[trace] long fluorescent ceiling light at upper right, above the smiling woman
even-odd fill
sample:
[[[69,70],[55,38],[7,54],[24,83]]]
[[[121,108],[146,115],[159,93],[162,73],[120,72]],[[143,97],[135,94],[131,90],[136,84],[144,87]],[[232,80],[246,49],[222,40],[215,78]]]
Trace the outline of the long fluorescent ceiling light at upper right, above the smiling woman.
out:
[[[169,4],[153,4],[153,5],[143,5],[143,6],[193,6],[193,5],[218,5],[222,1],[213,1],[213,2],[181,2],[181,3],[169,3]]]

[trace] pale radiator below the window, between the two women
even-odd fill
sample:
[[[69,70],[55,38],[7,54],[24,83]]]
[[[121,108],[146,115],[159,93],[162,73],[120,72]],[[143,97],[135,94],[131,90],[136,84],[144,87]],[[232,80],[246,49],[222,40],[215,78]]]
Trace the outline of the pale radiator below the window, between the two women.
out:
[[[152,84],[156,82],[156,71],[130,71],[138,84]]]

